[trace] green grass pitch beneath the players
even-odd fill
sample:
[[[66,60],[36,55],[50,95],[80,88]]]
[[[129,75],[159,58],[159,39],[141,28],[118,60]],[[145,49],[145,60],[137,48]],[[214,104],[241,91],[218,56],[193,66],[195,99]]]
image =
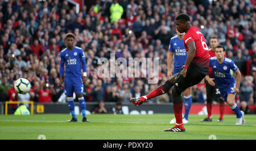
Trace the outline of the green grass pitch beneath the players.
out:
[[[245,115],[246,124],[236,126],[236,115],[224,115],[224,122],[200,122],[205,116],[189,115],[186,132],[164,132],[174,114],[87,115],[89,123],[67,123],[69,114],[0,115],[0,139],[93,139],[93,140],[171,140],[171,139],[256,139],[256,115]]]

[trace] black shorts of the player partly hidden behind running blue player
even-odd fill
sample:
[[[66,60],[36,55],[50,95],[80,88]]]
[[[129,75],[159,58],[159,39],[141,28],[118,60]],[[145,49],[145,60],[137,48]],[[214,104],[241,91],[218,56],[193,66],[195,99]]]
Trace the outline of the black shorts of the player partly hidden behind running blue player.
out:
[[[215,83],[215,80],[213,81]],[[212,100],[218,101],[218,99],[221,97],[220,90],[218,90],[216,85],[210,85],[207,80],[204,80],[204,82],[206,84],[207,98],[212,98]]]

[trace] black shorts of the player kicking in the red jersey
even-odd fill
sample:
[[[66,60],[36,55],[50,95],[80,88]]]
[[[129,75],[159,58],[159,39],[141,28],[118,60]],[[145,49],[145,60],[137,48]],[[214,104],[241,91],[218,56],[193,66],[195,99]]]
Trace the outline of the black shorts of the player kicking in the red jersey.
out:
[[[176,89],[181,90],[182,92],[185,89],[200,83],[206,76],[205,74],[202,74],[201,72],[196,70],[195,64],[191,63],[191,64],[189,64],[187,74],[184,77],[181,75],[181,71],[183,70],[183,68],[184,68],[184,66],[181,67],[181,69],[178,72],[176,79],[174,81],[174,87]]]

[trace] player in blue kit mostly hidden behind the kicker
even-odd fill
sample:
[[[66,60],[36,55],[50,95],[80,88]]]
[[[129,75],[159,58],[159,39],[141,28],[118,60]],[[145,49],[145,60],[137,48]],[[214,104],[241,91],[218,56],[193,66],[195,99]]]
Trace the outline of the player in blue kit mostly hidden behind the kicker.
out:
[[[184,46],[184,41],[183,37],[185,33],[180,33],[177,31],[177,35],[172,37],[170,40],[170,45],[169,45],[169,52],[167,56],[167,76],[171,77],[172,75],[175,75],[177,72],[180,71],[180,68],[185,64],[186,59],[187,59],[187,51]],[[174,72],[172,74],[171,71],[171,64],[174,62]],[[184,107],[185,107],[185,114],[183,117],[183,123],[187,124],[188,123],[188,114],[189,110],[192,105],[192,98],[191,98],[191,87],[187,88],[184,90]],[[172,119],[170,124],[176,123],[176,119]]]

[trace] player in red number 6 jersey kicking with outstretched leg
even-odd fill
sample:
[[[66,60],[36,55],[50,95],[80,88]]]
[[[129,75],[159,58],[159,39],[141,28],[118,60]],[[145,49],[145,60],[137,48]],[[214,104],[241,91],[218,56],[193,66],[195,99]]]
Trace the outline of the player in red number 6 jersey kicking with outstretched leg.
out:
[[[141,105],[150,98],[168,92],[172,86],[172,98],[174,100],[174,115],[176,124],[174,127],[164,130],[170,132],[185,132],[182,121],[182,98],[181,93],[193,85],[200,83],[208,74],[209,70],[209,51],[205,42],[204,35],[196,27],[192,27],[190,18],[187,14],[179,14],[176,17],[176,29],[180,33],[185,32],[184,45],[187,50],[185,65],[180,71],[170,77],[166,83],[152,90],[146,96],[131,98],[134,105]]]

